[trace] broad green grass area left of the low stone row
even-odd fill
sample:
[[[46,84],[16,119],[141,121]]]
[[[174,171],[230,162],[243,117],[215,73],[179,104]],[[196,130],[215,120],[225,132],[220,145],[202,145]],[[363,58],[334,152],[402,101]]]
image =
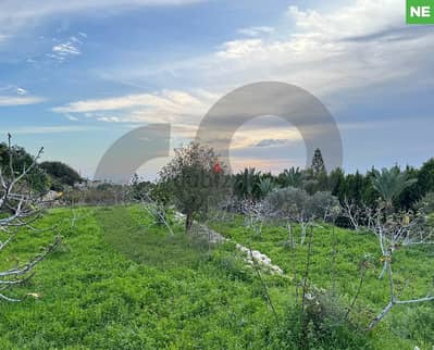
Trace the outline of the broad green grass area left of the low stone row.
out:
[[[14,295],[32,291],[40,299],[0,304],[1,349],[265,346],[271,315],[262,298],[251,296],[257,284],[222,267],[228,251],[210,254],[179,227],[174,239],[147,229],[149,222],[136,220],[137,209],[76,212],[84,218],[73,229],[67,210],[52,211],[41,223],[65,220],[64,246]],[[8,257],[24,261],[50,240],[47,232],[29,240],[22,235]]]

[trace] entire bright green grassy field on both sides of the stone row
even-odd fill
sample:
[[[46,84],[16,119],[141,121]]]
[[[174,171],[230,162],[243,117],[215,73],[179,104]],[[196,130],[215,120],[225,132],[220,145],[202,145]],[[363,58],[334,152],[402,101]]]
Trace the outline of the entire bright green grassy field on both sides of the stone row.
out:
[[[72,225],[71,217],[75,217]],[[39,299],[0,303],[0,349],[280,349],[263,287],[246,266],[234,243],[211,249],[186,236],[152,225],[139,207],[52,210],[39,224],[57,223],[63,245],[36,270],[35,277],[14,291],[37,292]],[[225,236],[266,253],[293,274],[286,234],[265,227],[252,237],[235,217],[211,223]],[[359,283],[359,261],[372,255],[351,320],[363,324],[387,302],[385,280],[379,280],[380,251],[375,238],[330,227],[314,232],[312,283],[332,289],[348,303]],[[52,240],[41,230],[21,235],[0,265],[11,266]],[[332,240],[337,241],[333,268]],[[396,283],[402,298],[424,296],[433,283],[433,250],[406,250],[396,255]],[[306,247],[296,262],[305,266]],[[334,272],[335,271],[335,272]],[[294,303],[290,278],[263,274],[276,312],[285,320]],[[332,280],[335,279],[335,283]],[[430,349],[434,343],[433,304],[396,307],[373,333],[348,349]],[[281,327],[290,328],[287,323]],[[287,345],[288,348],[290,346]],[[293,347],[296,348],[296,347]],[[334,347],[338,349],[338,346]]]

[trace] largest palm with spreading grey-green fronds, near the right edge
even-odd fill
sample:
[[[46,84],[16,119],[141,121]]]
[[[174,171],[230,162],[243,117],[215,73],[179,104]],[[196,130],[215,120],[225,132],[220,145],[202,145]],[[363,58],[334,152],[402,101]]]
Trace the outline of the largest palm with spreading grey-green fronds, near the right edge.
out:
[[[394,166],[390,170],[383,168],[381,173],[377,170],[373,170],[372,185],[384,199],[388,210],[393,208],[394,199],[416,182],[416,178],[409,179],[408,174],[401,173],[398,166]]]

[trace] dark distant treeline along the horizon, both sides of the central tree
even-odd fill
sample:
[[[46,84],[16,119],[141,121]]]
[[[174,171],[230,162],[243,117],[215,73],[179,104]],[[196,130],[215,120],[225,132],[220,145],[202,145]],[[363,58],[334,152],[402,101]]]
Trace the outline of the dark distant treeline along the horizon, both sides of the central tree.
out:
[[[9,172],[10,152],[14,153],[17,168],[23,168],[32,163],[33,157],[24,148],[0,143],[0,166],[3,174],[8,175]],[[407,179],[413,180],[411,186],[405,188],[394,199],[393,204],[398,210],[411,209],[422,197],[434,191],[434,158],[426,161],[420,168],[407,166],[401,170],[394,166],[388,171],[402,174]],[[379,173],[375,168],[371,168],[365,174],[360,172],[345,174],[342,168],[327,173],[321,151],[317,150],[309,168],[290,167],[278,175],[246,168],[231,176],[231,187],[232,195],[238,199],[260,200],[275,188],[295,187],[305,189],[310,195],[318,191],[330,191],[342,203],[348,201],[356,205],[373,207],[381,197],[373,186],[375,173]],[[27,175],[26,180],[35,191],[47,192],[50,189],[57,191],[70,189],[84,179],[75,170],[62,162],[42,162]],[[139,180],[137,176],[133,179],[132,186],[138,192],[154,190],[156,187],[154,184]],[[98,186],[94,191],[113,191],[108,187],[115,186],[104,184]]]

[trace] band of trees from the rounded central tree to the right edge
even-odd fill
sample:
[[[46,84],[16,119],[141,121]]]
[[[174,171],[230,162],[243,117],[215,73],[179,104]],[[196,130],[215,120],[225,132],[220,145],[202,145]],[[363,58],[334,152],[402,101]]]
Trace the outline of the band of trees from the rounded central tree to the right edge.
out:
[[[136,182],[134,186],[149,188],[150,185]],[[286,202],[287,216],[299,223],[306,222],[307,215],[325,220],[330,215],[327,210],[339,207],[343,210],[339,215],[335,211],[334,221],[358,228],[368,220],[362,209],[374,210],[384,203],[387,214],[416,211],[418,203],[434,191],[434,159],[421,168],[407,166],[401,171],[394,166],[382,171],[372,168],[365,174],[345,174],[336,168],[327,173],[317,149],[307,170],[292,167],[273,175],[246,168],[231,175],[212,149],[193,142],[176,150],[174,159],[161,171],[156,187],[160,195],[165,193],[164,203],[172,200],[186,214],[187,229],[198,213],[206,213],[222,199],[230,201],[231,208],[237,208],[234,202],[255,203],[264,199]]]

